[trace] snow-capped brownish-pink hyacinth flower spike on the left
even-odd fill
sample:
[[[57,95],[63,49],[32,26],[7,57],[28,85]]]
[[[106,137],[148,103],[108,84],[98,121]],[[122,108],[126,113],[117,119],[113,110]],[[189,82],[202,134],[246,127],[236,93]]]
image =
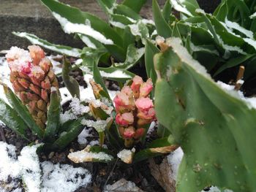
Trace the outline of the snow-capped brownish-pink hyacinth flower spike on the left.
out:
[[[50,90],[59,88],[58,80],[41,47],[31,45],[28,48],[29,51],[11,47],[8,51],[6,58],[11,70],[10,81],[37,125],[45,128]]]

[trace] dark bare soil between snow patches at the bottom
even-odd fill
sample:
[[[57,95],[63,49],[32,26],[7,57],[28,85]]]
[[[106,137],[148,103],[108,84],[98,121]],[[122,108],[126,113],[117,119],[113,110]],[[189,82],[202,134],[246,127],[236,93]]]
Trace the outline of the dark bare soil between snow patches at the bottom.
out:
[[[29,142],[25,139],[22,139],[17,134],[15,134],[10,128],[0,124],[0,128],[4,131],[4,136],[1,135],[0,141],[6,140],[6,142],[10,145],[16,146],[17,155],[20,154],[20,150],[26,145],[29,145]],[[92,131],[91,134],[93,137],[87,138],[88,142],[98,139],[97,132]],[[154,133],[155,134],[155,133]],[[153,135],[154,135],[153,134]],[[4,137],[4,138],[3,138]],[[155,135],[154,135],[155,137]],[[34,141],[37,142],[35,137],[32,137]],[[148,141],[151,139],[148,139]],[[105,141],[107,142],[107,141]],[[108,145],[108,143],[106,143]],[[147,161],[141,161],[138,164],[127,165],[122,163],[121,161],[113,162],[110,164],[102,164],[102,163],[83,163],[83,164],[74,164],[72,161],[69,161],[67,155],[70,151],[82,150],[84,146],[80,146],[78,142],[75,140],[72,142],[65,151],[59,153],[50,153],[50,154],[39,154],[40,161],[51,161],[53,164],[72,164],[75,167],[83,167],[88,169],[92,174],[91,185],[86,188],[80,188],[76,192],[89,192],[89,191],[102,191],[106,185],[112,185],[116,181],[124,178],[126,180],[132,181],[143,191],[164,191],[162,187],[157,183],[157,180],[151,175],[150,169],[148,167]],[[155,158],[157,164],[161,163],[162,158]],[[10,181],[12,178],[10,178]],[[23,186],[22,181],[20,180],[18,184],[12,188],[18,188]]]

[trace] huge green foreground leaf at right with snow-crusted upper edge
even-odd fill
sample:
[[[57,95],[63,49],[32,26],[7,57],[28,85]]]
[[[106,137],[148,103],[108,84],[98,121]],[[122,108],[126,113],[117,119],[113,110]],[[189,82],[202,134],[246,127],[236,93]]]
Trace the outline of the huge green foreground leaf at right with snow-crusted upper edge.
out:
[[[155,109],[184,150],[177,191],[256,191],[255,108],[219,88],[180,39],[164,44],[154,55]]]

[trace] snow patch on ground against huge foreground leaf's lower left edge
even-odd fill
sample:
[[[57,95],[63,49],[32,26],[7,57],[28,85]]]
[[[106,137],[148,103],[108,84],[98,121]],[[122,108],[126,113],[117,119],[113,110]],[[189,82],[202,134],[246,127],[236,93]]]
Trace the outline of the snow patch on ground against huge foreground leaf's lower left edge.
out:
[[[182,159],[183,155],[184,155],[184,153],[183,153],[183,150],[181,149],[181,147],[178,147],[178,149],[176,149],[175,151],[170,153],[170,155],[167,155],[168,164],[170,164],[170,166],[172,167],[172,170],[173,170],[173,173],[170,175],[170,178],[172,180],[177,179],[178,166],[179,166],[179,164],[181,164],[181,159]]]

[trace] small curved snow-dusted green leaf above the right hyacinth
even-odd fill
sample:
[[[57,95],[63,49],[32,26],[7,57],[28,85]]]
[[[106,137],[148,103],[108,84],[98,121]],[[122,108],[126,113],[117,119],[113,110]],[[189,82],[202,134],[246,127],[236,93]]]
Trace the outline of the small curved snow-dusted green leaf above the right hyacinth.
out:
[[[131,44],[127,48],[127,59],[124,63],[115,64],[118,69],[130,69],[132,66],[138,63],[140,58],[144,55],[145,48],[136,48],[135,45]]]

